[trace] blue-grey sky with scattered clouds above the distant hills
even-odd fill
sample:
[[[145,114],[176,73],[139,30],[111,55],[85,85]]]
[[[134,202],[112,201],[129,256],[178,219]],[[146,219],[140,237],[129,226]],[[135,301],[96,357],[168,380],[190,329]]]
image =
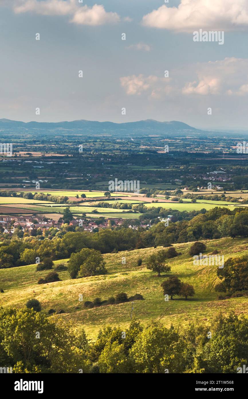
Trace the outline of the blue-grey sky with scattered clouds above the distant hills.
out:
[[[0,0],[0,118],[246,128],[248,0],[96,1]]]

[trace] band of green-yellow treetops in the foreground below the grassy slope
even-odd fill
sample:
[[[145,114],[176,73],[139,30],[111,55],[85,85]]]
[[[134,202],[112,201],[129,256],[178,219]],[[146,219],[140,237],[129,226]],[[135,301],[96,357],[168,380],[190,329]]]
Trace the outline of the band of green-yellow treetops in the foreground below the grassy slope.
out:
[[[232,313],[170,328],[134,319],[89,340],[83,328],[29,306],[38,311],[0,310],[0,366],[13,373],[237,373],[248,364],[248,320]]]

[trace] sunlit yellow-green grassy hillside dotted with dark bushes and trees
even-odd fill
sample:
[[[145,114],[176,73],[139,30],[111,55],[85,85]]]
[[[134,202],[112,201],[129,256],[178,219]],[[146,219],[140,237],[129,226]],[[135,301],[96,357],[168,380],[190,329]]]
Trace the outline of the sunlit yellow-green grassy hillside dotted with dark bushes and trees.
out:
[[[218,239],[206,240],[205,254],[218,249],[224,255],[225,261],[235,253],[248,254],[248,239]],[[214,286],[217,278],[216,266],[193,266],[192,257],[188,255],[192,243],[175,244],[174,247],[182,255],[169,259],[172,268],[170,275],[177,275],[183,282],[192,284],[195,296],[187,301],[181,297],[175,300],[164,301],[161,282],[166,278],[156,277],[156,274],[146,269],[146,259],[161,248],[138,249],[117,254],[105,254],[107,275],[86,277],[72,280],[68,272],[59,272],[61,281],[49,284],[37,284],[39,277],[44,277],[49,271],[36,271],[36,265],[16,267],[0,270],[0,306],[22,307],[28,299],[37,298],[42,309],[48,312],[50,308],[56,311],[63,309],[66,313],[58,315],[66,320],[71,320],[75,328],[86,329],[91,337],[95,337],[98,330],[105,324],[119,324],[126,328],[130,322],[131,303],[101,306],[99,308],[84,309],[83,302],[100,297],[102,300],[115,296],[119,292],[126,292],[128,296],[136,293],[142,294],[145,300],[135,301],[134,316],[141,320],[143,325],[152,318],[158,318],[164,325],[171,323],[187,323],[192,318],[211,318],[215,310],[235,310],[238,314],[248,314],[248,298],[231,298],[217,300],[218,294]],[[126,264],[121,263],[126,257]],[[137,258],[141,257],[143,263],[137,267]],[[65,263],[67,260],[55,261]],[[83,294],[83,302],[79,302],[79,295]]]

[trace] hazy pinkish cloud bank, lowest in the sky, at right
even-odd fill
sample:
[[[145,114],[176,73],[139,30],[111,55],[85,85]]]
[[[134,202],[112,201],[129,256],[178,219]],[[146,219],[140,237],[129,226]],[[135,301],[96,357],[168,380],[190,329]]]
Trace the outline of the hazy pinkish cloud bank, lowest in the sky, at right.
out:
[[[170,71],[170,78],[155,75],[130,75],[120,78],[127,95],[145,95],[150,99],[174,96],[248,95],[248,59],[225,58],[189,65]],[[186,76],[188,79],[186,80]],[[173,79],[172,79],[173,77]]]

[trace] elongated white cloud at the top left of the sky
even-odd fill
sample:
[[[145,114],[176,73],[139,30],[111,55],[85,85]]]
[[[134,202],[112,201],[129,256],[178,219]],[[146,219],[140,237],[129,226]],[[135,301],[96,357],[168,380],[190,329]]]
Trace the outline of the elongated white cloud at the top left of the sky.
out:
[[[103,25],[120,21],[116,12],[106,12],[102,5],[82,6],[77,0],[19,0],[13,6],[14,12],[33,12],[41,15],[68,15],[70,22],[81,25]]]

